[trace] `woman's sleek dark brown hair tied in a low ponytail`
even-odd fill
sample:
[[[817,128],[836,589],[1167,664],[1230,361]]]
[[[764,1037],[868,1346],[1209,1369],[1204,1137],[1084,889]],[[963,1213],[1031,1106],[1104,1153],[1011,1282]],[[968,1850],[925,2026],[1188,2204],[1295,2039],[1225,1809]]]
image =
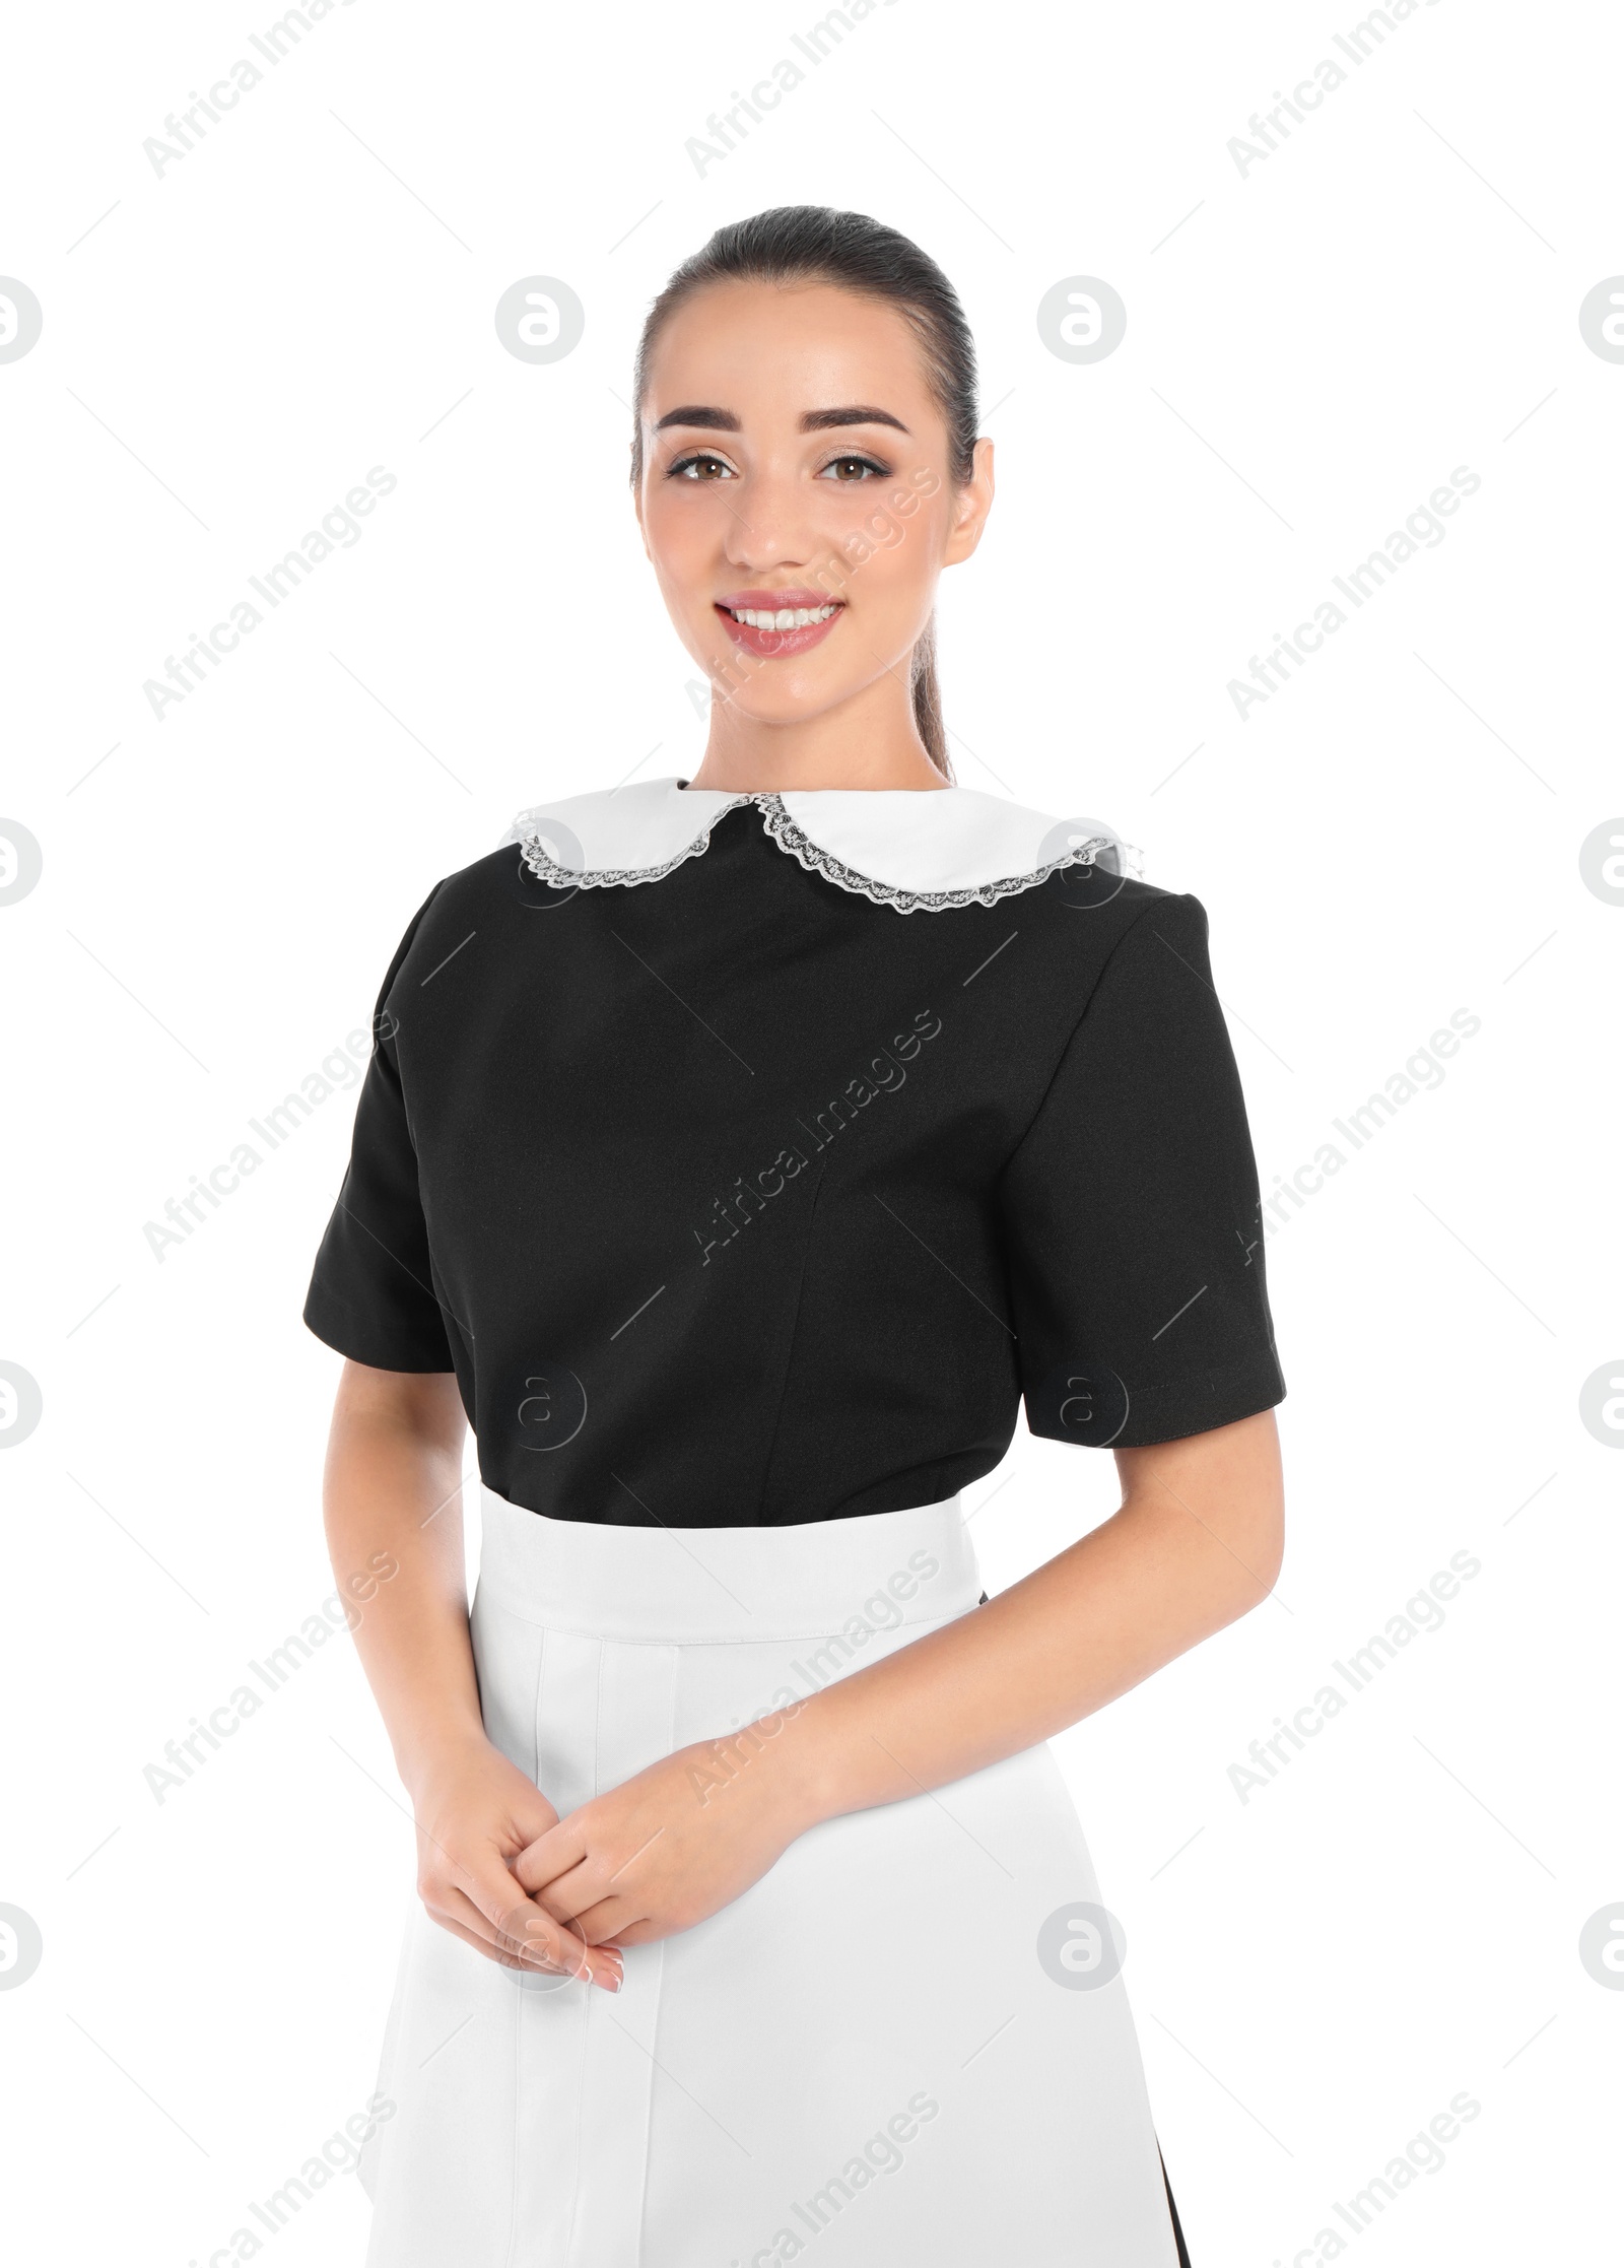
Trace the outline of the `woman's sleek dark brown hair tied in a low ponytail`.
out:
[[[667,320],[708,284],[835,284],[898,308],[914,329],[925,358],[925,376],[948,426],[948,474],[964,485],[975,469],[975,340],[959,295],[944,272],[898,229],[866,213],[837,213],[828,204],[780,204],[717,229],[708,245],[685,259],[649,308],[633,370],[633,488],[642,481],[642,399],[649,363]],[[914,644],[914,723],[930,762],[953,778],[948,735],[937,685],[937,619]]]

